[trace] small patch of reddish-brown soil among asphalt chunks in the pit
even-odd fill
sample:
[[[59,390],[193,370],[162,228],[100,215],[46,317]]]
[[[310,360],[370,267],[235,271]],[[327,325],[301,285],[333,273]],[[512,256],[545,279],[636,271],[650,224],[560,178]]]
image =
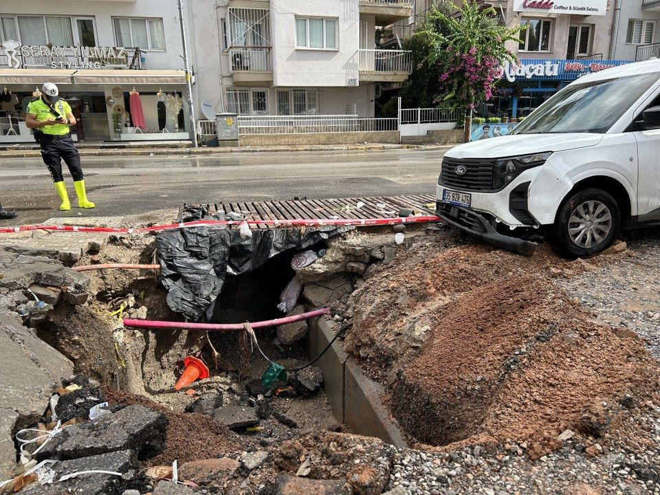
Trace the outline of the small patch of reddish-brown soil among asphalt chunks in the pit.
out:
[[[165,450],[153,459],[149,459],[146,462],[147,466],[169,465],[175,460],[186,463],[199,459],[212,459],[243,448],[238,435],[220,426],[210,416],[187,412],[177,414],[142,395],[118,392],[111,388],[104,388],[104,393],[111,405],[140,404],[162,412],[169,419]]]

